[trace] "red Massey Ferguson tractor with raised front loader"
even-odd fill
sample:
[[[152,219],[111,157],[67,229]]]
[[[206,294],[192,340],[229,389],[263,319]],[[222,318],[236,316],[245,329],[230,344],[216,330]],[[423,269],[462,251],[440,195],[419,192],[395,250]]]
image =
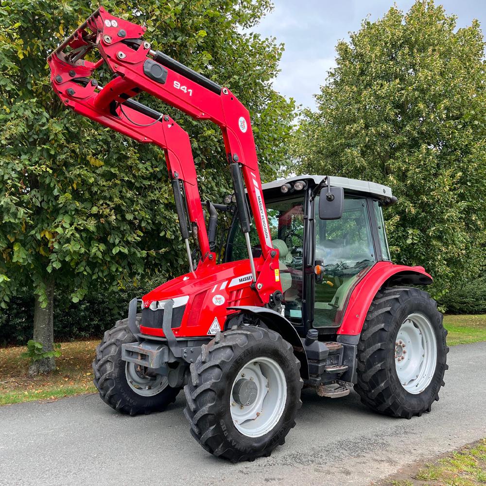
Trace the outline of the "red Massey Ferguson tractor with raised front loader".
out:
[[[354,385],[369,408],[394,417],[430,412],[447,331],[417,287],[431,276],[390,260],[390,188],[322,175],[262,185],[248,110],[153,50],[144,32],[99,8],[48,58],[66,106],[164,150],[189,260],[187,274],[134,298],[105,332],[93,363],[104,402],[148,414],[184,389],[193,437],[233,462],[284,443],[303,385],[330,398]],[[100,68],[111,73],[104,86]],[[221,128],[234,190],[224,204],[203,211],[188,134],[135,101],[141,92]],[[232,223],[215,251],[219,211]]]

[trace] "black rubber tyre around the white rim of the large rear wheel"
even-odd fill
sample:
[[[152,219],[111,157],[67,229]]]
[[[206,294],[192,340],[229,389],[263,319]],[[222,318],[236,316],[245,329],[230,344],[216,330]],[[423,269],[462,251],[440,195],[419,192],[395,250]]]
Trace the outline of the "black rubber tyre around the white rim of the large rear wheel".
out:
[[[409,393],[399,381],[395,364],[396,338],[402,323],[412,313],[427,317],[434,330],[437,360],[430,384],[420,393]],[[358,382],[354,389],[371,409],[393,417],[420,417],[430,412],[439,399],[448,368],[447,330],[442,313],[429,294],[417,288],[394,287],[381,290],[366,314],[358,344]]]

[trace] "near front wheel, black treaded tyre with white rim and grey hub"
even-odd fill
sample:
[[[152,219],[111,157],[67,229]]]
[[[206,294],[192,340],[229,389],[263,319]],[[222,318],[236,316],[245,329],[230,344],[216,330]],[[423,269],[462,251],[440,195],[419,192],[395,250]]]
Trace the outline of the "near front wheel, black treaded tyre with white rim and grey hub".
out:
[[[295,426],[299,368],[292,346],[272,330],[244,326],[216,334],[184,387],[192,436],[232,462],[269,456]]]

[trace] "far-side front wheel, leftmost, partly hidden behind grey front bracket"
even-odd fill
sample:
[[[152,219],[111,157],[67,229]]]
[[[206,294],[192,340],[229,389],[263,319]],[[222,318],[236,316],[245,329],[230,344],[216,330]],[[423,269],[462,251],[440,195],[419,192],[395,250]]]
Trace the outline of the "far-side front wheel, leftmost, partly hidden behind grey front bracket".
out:
[[[137,325],[139,321],[138,316]],[[172,388],[166,377],[149,377],[135,363],[123,361],[121,345],[134,341],[128,319],[104,333],[93,361],[94,384],[103,401],[118,412],[137,415],[161,411],[175,401],[181,388]]]

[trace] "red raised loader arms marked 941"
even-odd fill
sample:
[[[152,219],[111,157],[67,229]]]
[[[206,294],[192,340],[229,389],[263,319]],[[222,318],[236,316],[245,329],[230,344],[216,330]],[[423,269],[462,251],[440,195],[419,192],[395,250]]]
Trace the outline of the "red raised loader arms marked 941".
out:
[[[126,33],[123,37],[118,36],[121,29]],[[255,215],[255,226],[260,238],[262,254],[268,260],[267,265],[262,269],[264,272],[268,271],[271,261],[275,258],[270,257],[272,241],[261,193],[258,160],[248,110],[226,88],[216,94],[169,68],[165,68],[168,76],[164,84],[157,83],[146,76],[143,72],[143,65],[147,59],[151,59],[149,57],[150,46],[144,46],[142,43],[137,49],[132,49],[122,43],[124,39],[140,38],[145,30],[145,27],[113,17],[103,7],[100,7],[48,57],[52,88],[66,105],[81,115],[140,142],[156,143],[164,149],[169,174],[185,182],[189,217],[191,222],[197,224],[201,253],[207,265],[214,264],[214,258],[208,259],[207,231],[187,134],[177,127],[172,119],[169,122],[160,121],[148,127],[139,127],[121,113],[120,107],[116,110],[116,116],[110,113],[110,103],[115,101],[122,104],[125,99],[121,95],[135,96],[137,92],[134,89],[138,88],[138,90],[146,91],[184,111],[196,120],[208,119],[219,125],[223,133],[228,159],[237,156],[238,163],[241,165],[251,210]],[[89,39],[88,31],[95,35],[94,39]],[[109,36],[108,42],[106,36]],[[98,61],[94,64],[83,59],[74,63],[68,62],[63,50],[67,46],[73,49],[89,46],[88,40],[91,43],[94,42],[94,46],[91,48],[96,47],[100,51],[103,62]],[[120,52],[124,55],[122,55],[122,59],[120,59]],[[103,63],[106,63],[109,69],[119,76],[110,81],[101,92],[97,92],[91,84],[82,87],[73,81],[79,77],[90,78],[93,71]],[[74,76],[69,76],[71,70],[75,72]],[[56,81],[57,75],[62,76],[61,82]],[[177,83],[186,89],[177,88]],[[68,88],[74,89],[74,94],[69,95]],[[126,105],[123,106],[123,110],[128,114],[128,118],[137,123],[148,124],[153,121]],[[173,135],[174,132],[176,132],[176,136]],[[175,176],[175,173],[178,173],[178,176]],[[272,282],[270,277],[271,275],[260,275],[258,278],[263,287],[257,292],[264,303],[268,302],[268,296],[273,291],[281,290],[280,286],[275,285],[275,281]],[[268,292],[269,287],[272,287],[270,292]]]

